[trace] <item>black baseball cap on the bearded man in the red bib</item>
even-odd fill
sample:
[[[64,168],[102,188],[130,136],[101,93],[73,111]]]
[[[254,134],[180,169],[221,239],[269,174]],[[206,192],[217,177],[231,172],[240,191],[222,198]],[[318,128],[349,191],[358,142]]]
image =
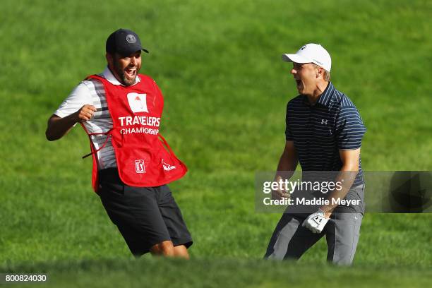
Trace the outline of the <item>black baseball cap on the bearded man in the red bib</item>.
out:
[[[140,50],[148,53],[148,50],[141,46],[140,37],[131,30],[116,30],[107,39],[106,51],[109,54],[118,53],[127,56]]]

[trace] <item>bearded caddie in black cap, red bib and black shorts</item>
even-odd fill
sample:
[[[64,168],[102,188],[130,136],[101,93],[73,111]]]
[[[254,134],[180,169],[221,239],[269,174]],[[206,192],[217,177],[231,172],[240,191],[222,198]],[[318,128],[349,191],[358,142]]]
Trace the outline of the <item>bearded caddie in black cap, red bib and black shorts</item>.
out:
[[[141,68],[140,38],[119,29],[106,43],[107,67],[88,76],[48,120],[57,140],[83,126],[93,158],[92,185],[131,253],[188,258],[192,239],[167,184],[186,166],[160,135],[164,99]]]

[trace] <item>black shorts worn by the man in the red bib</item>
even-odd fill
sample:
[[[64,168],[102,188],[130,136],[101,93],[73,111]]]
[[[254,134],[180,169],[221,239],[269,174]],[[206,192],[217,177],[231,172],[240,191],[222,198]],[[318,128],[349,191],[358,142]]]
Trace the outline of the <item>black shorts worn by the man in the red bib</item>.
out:
[[[99,176],[102,204],[133,255],[148,253],[162,241],[186,248],[192,245],[191,234],[167,185],[128,186],[116,168],[103,169]]]

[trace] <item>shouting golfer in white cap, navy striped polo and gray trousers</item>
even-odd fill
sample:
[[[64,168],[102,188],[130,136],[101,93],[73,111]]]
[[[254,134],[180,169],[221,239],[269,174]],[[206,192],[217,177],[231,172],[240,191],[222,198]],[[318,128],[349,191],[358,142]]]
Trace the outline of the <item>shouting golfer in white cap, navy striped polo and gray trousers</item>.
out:
[[[325,235],[328,261],[351,265],[364,215],[364,181],[361,172],[361,138],[366,128],[347,95],[330,82],[332,61],[320,44],[306,44],[296,54],[283,54],[293,63],[291,73],[299,91],[287,104],[286,144],[277,166],[276,181],[289,179],[300,163],[304,173],[336,171],[342,185],[325,194],[328,204],[312,214],[282,215],[268,244],[265,258],[299,259]],[[274,191],[274,198],[289,197]],[[337,205],[337,201],[349,205]]]

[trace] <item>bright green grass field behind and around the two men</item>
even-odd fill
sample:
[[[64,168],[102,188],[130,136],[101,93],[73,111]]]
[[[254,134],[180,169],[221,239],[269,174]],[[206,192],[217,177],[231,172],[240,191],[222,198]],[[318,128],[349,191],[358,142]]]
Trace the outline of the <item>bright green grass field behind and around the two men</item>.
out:
[[[332,82],[364,119],[363,168],[432,169],[431,13],[420,0],[2,1],[0,272],[47,272],[61,287],[427,287],[432,215],[367,213],[354,267],[335,268],[324,241],[298,264],[260,261],[280,215],[253,203],[296,95],[280,55],[307,42],[328,49]],[[188,165],[171,185],[195,241],[188,263],[134,260],[92,193],[85,133],[44,138],[61,101],[103,70],[117,28],[150,50],[141,72],[162,89],[162,134]]]

